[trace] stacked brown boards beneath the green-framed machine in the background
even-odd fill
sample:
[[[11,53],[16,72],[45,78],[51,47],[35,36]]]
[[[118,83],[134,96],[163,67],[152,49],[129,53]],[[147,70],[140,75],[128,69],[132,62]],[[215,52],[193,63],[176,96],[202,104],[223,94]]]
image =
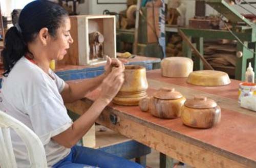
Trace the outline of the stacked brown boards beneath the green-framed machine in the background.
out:
[[[204,45],[204,58],[215,69],[234,76],[236,68],[236,44],[206,42]]]

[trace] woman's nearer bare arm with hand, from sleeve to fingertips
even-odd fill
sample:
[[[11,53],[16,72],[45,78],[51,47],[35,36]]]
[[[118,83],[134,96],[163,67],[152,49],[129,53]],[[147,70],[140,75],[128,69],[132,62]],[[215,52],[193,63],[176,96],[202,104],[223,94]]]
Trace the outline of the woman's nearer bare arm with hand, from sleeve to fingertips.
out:
[[[81,115],[81,117],[73,123],[70,128],[53,136],[52,138],[54,141],[66,148],[71,148],[84,134],[86,134],[97,120],[104,107],[110,103],[120,90],[124,81],[123,70],[124,68],[122,66],[113,69],[113,71],[102,81],[103,89],[100,92],[99,98],[92,104],[86,113]]]

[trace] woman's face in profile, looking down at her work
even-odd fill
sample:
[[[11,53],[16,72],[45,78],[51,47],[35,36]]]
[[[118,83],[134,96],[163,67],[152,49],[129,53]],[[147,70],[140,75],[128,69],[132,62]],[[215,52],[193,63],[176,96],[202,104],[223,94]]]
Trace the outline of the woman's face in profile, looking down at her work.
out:
[[[56,36],[51,37],[48,43],[48,55],[50,60],[62,60],[67,53],[69,45],[73,43],[70,29],[70,19],[69,17],[65,17],[62,25],[56,31]]]

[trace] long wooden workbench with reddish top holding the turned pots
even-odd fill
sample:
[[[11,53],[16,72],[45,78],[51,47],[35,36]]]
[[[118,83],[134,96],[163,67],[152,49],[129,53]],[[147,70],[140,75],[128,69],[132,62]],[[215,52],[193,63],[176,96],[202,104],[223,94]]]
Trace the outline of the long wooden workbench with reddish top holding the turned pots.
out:
[[[160,70],[148,71],[147,79],[148,95],[168,86],[186,98],[202,94],[214,99],[222,108],[221,122],[214,128],[195,129],[183,125],[180,118],[158,119],[143,113],[138,106],[112,103],[97,122],[191,166],[256,167],[256,113],[239,106],[240,81],[231,80],[230,85],[222,87],[199,87],[186,83],[186,78],[162,77]],[[96,90],[87,98],[66,105],[81,115],[98,93]]]

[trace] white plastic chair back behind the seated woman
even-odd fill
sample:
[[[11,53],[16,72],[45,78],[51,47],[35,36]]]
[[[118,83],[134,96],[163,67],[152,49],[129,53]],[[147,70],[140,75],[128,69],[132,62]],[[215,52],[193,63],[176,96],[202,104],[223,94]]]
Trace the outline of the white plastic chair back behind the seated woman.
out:
[[[39,137],[22,122],[0,111],[0,167],[17,167],[10,128],[25,142],[31,167],[47,167],[44,146]]]

